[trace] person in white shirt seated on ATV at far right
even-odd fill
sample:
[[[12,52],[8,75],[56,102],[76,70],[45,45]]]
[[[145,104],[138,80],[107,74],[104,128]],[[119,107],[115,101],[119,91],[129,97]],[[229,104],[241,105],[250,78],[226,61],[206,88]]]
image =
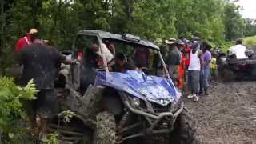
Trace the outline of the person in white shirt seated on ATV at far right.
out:
[[[230,47],[230,58],[246,58],[246,46],[242,45],[242,39],[238,39],[236,45]]]

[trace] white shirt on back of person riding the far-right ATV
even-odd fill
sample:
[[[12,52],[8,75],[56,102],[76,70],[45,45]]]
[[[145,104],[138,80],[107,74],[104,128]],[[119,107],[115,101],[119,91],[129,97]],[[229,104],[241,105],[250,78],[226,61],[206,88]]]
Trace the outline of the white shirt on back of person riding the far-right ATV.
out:
[[[230,53],[235,54],[238,59],[244,59],[246,58],[246,46],[243,46],[242,44],[231,46]]]

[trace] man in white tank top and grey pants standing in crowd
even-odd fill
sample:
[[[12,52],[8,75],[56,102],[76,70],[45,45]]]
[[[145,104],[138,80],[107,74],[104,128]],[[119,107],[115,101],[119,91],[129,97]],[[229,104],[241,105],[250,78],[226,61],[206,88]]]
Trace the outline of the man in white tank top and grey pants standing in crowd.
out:
[[[199,43],[194,41],[192,43],[192,50],[190,51],[190,65],[188,68],[188,85],[191,90],[191,94],[187,98],[194,98],[197,102],[199,97],[199,82],[200,82],[200,70],[202,69],[202,51],[198,50]]]

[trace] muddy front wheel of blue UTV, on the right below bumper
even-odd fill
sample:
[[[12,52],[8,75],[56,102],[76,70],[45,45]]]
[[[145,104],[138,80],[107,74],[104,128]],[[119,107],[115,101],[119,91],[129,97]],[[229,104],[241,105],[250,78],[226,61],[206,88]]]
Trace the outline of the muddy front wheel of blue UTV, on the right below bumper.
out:
[[[170,142],[175,144],[196,144],[195,121],[187,110],[183,110],[174,124]]]

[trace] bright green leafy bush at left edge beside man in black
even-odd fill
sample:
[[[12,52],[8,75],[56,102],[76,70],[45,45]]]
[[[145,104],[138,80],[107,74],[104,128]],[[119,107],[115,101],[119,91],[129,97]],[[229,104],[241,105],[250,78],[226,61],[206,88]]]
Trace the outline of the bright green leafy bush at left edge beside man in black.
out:
[[[0,128],[3,133],[14,132],[18,120],[24,117],[21,100],[33,100],[37,92],[33,80],[20,87],[14,84],[14,78],[0,77]]]

